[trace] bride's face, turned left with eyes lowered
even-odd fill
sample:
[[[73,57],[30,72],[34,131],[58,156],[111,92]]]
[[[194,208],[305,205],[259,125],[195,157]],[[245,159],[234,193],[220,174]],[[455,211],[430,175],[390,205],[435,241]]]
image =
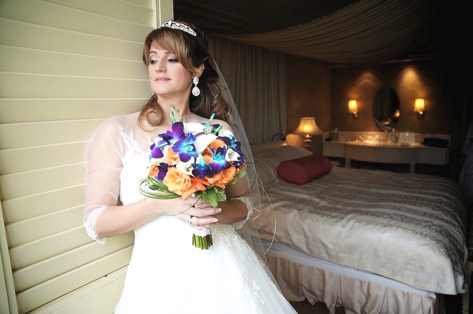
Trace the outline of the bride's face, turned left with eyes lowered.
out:
[[[189,97],[192,73],[177,60],[175,54],[153,44],[149,60],[149,84],[158,96]]]

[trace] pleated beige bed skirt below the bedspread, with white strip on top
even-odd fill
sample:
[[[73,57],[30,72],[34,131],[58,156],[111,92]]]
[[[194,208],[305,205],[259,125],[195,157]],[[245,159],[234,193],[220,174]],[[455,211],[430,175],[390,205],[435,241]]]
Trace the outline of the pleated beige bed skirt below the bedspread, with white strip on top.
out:
[[[263,246],[268,243],[263,243]],[[269,268],[289,301],[323,302],[330,314],[443,314],[442,295],[413,288],[374,273],[331,263],[273,243]]]

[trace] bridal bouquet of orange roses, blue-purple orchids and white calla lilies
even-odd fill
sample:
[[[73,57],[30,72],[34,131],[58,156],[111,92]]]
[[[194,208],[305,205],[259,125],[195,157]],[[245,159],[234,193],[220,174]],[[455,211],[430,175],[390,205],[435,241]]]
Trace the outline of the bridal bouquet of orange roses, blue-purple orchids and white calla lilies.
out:
[[[170,105],[169,115],[171,130],[158,135],[150,146],[151,164],[148,177],[140,182],[140,192],[162,200],[202,197],[216,207],[227,199],[225,186],[245,175],[240,142],[231,131],[212,124],[214,113],[208,123],[183,123],[179,110]],[[193,228],[192,244],[211,247],[211,230]]]

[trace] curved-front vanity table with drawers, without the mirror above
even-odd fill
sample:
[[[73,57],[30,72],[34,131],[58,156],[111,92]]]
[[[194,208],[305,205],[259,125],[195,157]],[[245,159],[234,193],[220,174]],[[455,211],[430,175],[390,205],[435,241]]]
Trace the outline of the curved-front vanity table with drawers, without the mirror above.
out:
[[[409,172],[415,172],[416,164],[446,165],[449,163],[449,149],[426,146],[420,143],[391,144],[363,141],[330,141],[323,143],[326,157],[345,158],[345,167],[351,167],[352,160],[409,164]]]

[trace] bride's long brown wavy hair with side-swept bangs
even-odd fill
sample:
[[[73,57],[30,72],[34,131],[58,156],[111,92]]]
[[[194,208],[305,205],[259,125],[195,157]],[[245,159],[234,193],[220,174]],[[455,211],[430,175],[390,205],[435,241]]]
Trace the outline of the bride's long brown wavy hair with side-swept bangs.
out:
[[[197,73],[199,66],[204,65],[204,70],[199,77],[198,88],[200,95],[190,93],[190,111],[205,118],[215,113],[215,118],[223,120],[235,128],[232,119],[232,106],[223,97],[225,89],[218,83],[219,76],[216,71],[215,61],[209,54],[206,36],[202,31],[190,23],[180,22],[191,27],[196,36],[181,29],[158,27],[151,31],[144,41],[143,63],[146,67],[150,63],[149,51],[154,43],[176,55],[178,61],[190,72]],[[158,96],[152,93],[146,104],[142,107],[138,123],[143,117],[151,126],[158,126],[164,118],[163,109],[158,105]],[[141,124],[140,124],[141,125]]]

